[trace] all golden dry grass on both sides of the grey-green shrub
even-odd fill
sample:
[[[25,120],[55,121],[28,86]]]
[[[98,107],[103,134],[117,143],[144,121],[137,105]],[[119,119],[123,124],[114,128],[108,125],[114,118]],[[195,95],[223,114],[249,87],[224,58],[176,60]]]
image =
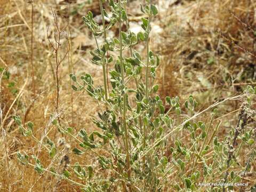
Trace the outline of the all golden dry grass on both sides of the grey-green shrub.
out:
[[[60,116],[61,122],[74,127],[75,131],[84,128],[90,132],[94,129],[90,118],[99,110],[97,103],[86,94],[71,91],[68,77],[70,72],[80,75],[86,71],[96,77],[97,84],[102,83],[100,66],[95,67],[90,62],[89,51],[95,45],[81,20],[81,16],[88,10],[93,10],[95,15],[99,14],[98,3],[93,1],[92,4],[87,4],[85,0],[70,5],[68,1],[56,2],[34,2],[35,95],[30,65],[31,4],[21,0],[1,2],[0,67],[3,71],[0,75],[0,191],[79,191],[71,183],[50,174],[38,175],[33,167],[22,166],[16,157],[17,151],[37,154],[44,167],[50,168],[52,165],[65,166],[63,159],[66,155],[68,164],[73,165],[77,159],[73,158],[76,155],[71,153],[71,149],[76,146],[76,142],[73,138],[62,137],[51,125],[50,116]],[[163,2],[166,3],[159,1],[159,6]],[[255,2],[170,2],[170,9],[163,9],[158,20],[154,21],[163,31],[150,40],[153,50],[162,55],[158,78],[158,83],[161,84],[159,94],[162,97],[178,94],[184,99],[189,94],[194,94],[204,108],[217,100],[241,93],[246,84],[255,81]],[[128,12],[133,17],[131,22],[136,25],[141,15],[138,14],[139,10],[134,11],[135,4],[137,2],[131,2]],[[47,29],[49,28],[50,35],[54,30],[51,7],[59,15],[60,26],[68,26],[61,33],[60,57],[63,57],[65,47],[70,46],[59,69],[59,114],[55,110],[57,93],[54,51],[47,37]],[[114,34],[115,30],[113,29]],[[52,36],[50,39],[54,40]],[[239,101],[230,102],[228,107],[220,108],[221,113],[230,113],[239,105]],[[57,145],[62,146],[59,154],[54,159],[49,159],[41,145],[22,137],[14,124],[13,115],[20,115],[26,122],[33,121],[35,137],[40,141],[45,140],[46,136],[56,143],[59,141]],[[219,135],[227,132],[225,129],[236,122],[234,114],[232,115],[225,118]],[[25,116],[26,119],[23,118]],[[66,141],[61,143],[60,139]],[[67,143],[71,143],[71,146]],[[243,153],[246,154],[246,151]],[[93,158],[93,154],[87,152],[79,159],[79,163],[87,165]],[[245,162],[246,159],[241,161]],[[246,180],[255,184],[255,163],[250,173]]]

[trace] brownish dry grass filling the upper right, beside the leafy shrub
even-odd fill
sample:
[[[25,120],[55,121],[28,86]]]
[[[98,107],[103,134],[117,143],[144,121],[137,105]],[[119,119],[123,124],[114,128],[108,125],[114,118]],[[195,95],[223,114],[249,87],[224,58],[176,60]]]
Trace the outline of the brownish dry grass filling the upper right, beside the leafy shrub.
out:
[[[178,91],[181,98],[193,94],[204,109],[210,103],[242,93],[247,85],[255,85],[256,3],[177,2],[164,14],[168,17],[160,21],[165,30],[158,50],[166,61],[163,74],[171,82],[164,91],[171,94],[175,85],[174,93]],[[237,121],[234,114],[239,105],[241,101],[232,101],[219,107],[222,114],[227,114],[218,118],[223,121],[219,138]],[[244,150],[238,161],[244,164],[249,151]],[[254,162],[245,180],[253,186],[255,178]]]

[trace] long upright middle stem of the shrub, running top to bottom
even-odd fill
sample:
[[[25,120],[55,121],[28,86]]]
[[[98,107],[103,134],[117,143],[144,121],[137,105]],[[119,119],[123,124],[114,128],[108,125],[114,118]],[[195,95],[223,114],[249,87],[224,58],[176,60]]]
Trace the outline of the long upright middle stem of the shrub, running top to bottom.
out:
[[[123,64],[123,47],[122,47],[122,20],[121,20],[121,0],[119,2],[119,41],[120,41],[120,50],[119,50],[119,56],[120,56],[120,63],[121,63],[121,76],[122,76],[122,82],[124,84],[124,64]],[[125,148],[126,148],[126,169],[127,169],[127,174],[128,178],[131,177],[131,170],[130,170],[130,154],[129,154],[129,143],[128,143],[128,131],[127,131],[127,126],[126,126],[126,94],[123,93],[124,98],[124,106],[123,106],[123,128],[125,132]]]

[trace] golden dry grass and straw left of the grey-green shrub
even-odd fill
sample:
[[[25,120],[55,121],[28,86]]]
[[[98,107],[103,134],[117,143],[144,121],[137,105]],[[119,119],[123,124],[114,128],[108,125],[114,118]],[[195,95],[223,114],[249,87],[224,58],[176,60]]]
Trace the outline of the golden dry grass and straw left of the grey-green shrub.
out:
[[[93,9],[94,4],[84,3],[83,10],[79,13],[70,16],[70,35],[72,39],[72,50],[69,56],[63,60],[60,66],[60,114],[61,121],[65,122],[67,126],[75,127],[76,130],[82,127],[86,130],[92,129],[92,123],[89,121],[90,115],[97,111],[97,106],[94,102],[87,98],[86,94],[73,93],[71,101],[71,90],[68,74],[71,71],[90,71],[95,76],[100,77],[97,67],[92,66],[88,55],[88,48],[94,46],[89,44],[91,39],[86,36],[88,33],[81,21],[81,15],[86,10]],[[96,5],[97,6],[97,5]],[[49,174],[37,175],[33,167],[24,167],[17,162],[17,151],[27,151],[28,154],[37,154],[41,159],[44,166],[58,165],[64,155],[68,155],[69,159],[73,159],[73,154],[70,149],[74,148],[76,143],[67,138],[66,143],[73,143],[73,146],[59,151],[57,158],[50,160],[47,154],[42,152],[42,146],[37,142],[31,141],[29,138],[22,137],[19,130],[14,125],[12,115],[17,114],[22,117],[27,117],[27,121],[35,122],[35,137],[43,141],[47,137],[54,138],[57,142],[61,137],[58,130],[50,124],[50,115],[55,114],[56,105],[56,77],[54,74],[54,52],[47,39],[47,28],[49,27],[49,36],[53,33],[53,10],[58,11],[58,20],[61,27],[66,26],[68,23],[67,14],[77,7],[76,4],[56,4],[54,1],[40,1],[34,3],[34,66],[35,66],[35,85],[36,94],[35,102],[33,97],[33,81],[31,78],[31,4],[24,1],[11,1],[5,2],[1,5],[1,67],[5,71],[10,72],[9,79],[5,78],[3,74],[1,82],[1,110],[3,137],[1,137],[1,191],[51,191],[54,187],[58,191],[76,191],[75,186],[70,186],[70,183],[59,182],[59,178],[53,178]],[[70,9],[70,10],[69,10]],[[72,22],[71,22],[72,21]],[[82,27],[80,27],[82,26]],[[63,57],[65,51],[68,32],[61,34],[61,47],[60,57]],[[2,38],[3,37],[3,38]],[[85,37],[85,38],[84,38]],[[51,40],[53,40],[51,38]],[[69,57],[69,58],[68,58]],[[79,72],[77,72],[79,73]],[[28,74],[28,76],[27,76]],[[27,81],[27,85],[23,90],[20,90],[22,85]],[[100,82],[101,79],[99,78]],[[17,93],[12,93],[12,88],[9,87],[10,82],[14,82]],[[18,95],[19,91],[21,92]],[[79,101],[78,101],[79,98]],[[15,100],[14,105],[11,107],[12,102]],[[71,105],[73,102],[73,105]],[[33,106],[33,103],[34,106]],[[90,107],[89,107],[90,106]],[[73,108],[73,111],[72,111]],[[6,115],[7,111],[10,113]],[[88,115],[90,114],[90,115]],[[4,145],[4,142],[6,145]],[[6,154],[5,154],[6,152]],[[7,156],[6,156],[7,155]],[[93,158],[91,154],[81,159],[81,164],[86,164],[86,159]],[[74,164],[70,160],[70,164]],[[7,168],[7,169],[6,169]]]

